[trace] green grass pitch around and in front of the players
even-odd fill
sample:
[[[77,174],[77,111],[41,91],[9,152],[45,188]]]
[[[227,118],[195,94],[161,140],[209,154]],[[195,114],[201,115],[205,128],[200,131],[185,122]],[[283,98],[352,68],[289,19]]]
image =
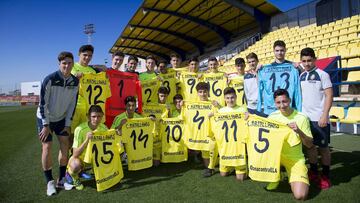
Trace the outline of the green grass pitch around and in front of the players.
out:
[[[203,178],[202,166],[192,162],[163,164],[158,168],[128,172],[121,184],[107,192],[96,192],[93,181],[83,191],[60,191],[46,197],[46,184],[41,171],[41,145],[36,135],[35,108],[0,108],[0,202],[20,201],[117,201],[117,202],[288,202],[294,201],[287,183],[276,192],[263,189],[265,183],[234,176]],[[310,187],[310,202],[359,202],[360,136],[332,137],[331,167],[333,187],[320,191]],[[58,142],[53,145],[53,160]],[[57,177],[57,162],[54,177]]]

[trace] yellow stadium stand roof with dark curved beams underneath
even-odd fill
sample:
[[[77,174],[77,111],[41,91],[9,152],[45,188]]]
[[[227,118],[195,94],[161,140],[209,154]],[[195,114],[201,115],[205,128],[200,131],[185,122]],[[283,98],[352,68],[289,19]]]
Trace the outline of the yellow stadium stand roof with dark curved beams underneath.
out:
[[[177,53],[203,54],[280,10],[264,0],[144,0],[110,52],[169,60]]]

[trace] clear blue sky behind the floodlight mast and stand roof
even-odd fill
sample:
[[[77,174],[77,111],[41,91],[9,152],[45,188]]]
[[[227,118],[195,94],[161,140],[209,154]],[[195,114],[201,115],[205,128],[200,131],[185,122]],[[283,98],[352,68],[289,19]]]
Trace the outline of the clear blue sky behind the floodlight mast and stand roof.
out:
[[[289,10],[309,0],[271,0]],[[57,55],[87,44],[84,25],[95,24],[93,64],[110,61],[109,49],[141,0],[1,0],[0,93],[20,88],[20,82],[42,80],[57,70]]]

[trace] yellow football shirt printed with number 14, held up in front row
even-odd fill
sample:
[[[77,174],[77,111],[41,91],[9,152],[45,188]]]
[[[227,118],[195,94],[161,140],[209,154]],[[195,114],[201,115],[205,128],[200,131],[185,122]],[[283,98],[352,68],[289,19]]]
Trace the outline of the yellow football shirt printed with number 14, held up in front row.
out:
[[[150,118],[128,119],[122,127],[121,141],[128,156],[129,171],[153,165],[153,138],[155,123]]]

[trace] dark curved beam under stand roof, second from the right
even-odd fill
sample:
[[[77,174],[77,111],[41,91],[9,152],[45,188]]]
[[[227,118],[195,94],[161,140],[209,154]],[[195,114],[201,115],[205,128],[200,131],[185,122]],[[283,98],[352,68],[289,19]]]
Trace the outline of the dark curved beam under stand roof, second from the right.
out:
[[[227,44],[229,44],[230,42],[230,37],[231,37],[231,32],[227,31],[226,29],[222,28],[219,25],[213,24],[209,21],[203,20],[201,18],[197,18],[191,15],[187,15],[187,14],[183,14],[183,13],[179,13],[176,11],[169,11],[169,10],[161,10],[161,9],[155,9],[155,8],[143,8],[144,11],[153,11],[153,12],[157,12],[157,13],[163,13],[163,14],[168,14],[168,15],[172,15],[172,16],[176,16],[179,18],[183,18],[186,19],[188,21],[197,23],[199,25],[202,25],[212,31],[214,31],[216,34],[219,35],[219,37],[223,40],[224,45],[226,46]]]

